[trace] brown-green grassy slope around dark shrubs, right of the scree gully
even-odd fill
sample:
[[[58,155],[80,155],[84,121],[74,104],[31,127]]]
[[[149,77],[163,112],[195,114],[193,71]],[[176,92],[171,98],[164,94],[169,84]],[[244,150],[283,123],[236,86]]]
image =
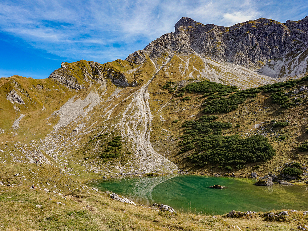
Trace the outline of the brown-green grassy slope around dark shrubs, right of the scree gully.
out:
[[[168,89],[163,89],[167,81],[158,85],[161,98],[164,95],[169,95],[171,100],[161,110],[161,115],[165,121],[162,121],[158,116],[155,117],[156,125],[152,132],[152,142],[156,150],[160,153],[166,153],[171,160],[179,164],[180,168],[185,168],[192,172],[204,172],[210,174],[224,174],[229,172],[225,169],[217,168],[218,164],[208,164],[204,168],[198,168],[187,161],[185,157],[191,154],[186,152],[178,154],[180,146],[178,137],[184,133],[184,121],[197,120],[204,113],[202,110],[205,108],[204,102],[208,96],[202,98],[203,93],[188,93],[183,96],[177,97],[178,92],[168,93]],[[176,85],[176,83],[174,84]],[[299,89],[301,85],[308,85],[308,81],[302,81],[293,87],[287,87],[282,90],[291,92]],[[157,86],[157,88],[158,88]],[[172,85],[171,85],[172,87]],[[242,176],[248,176],[251,171],[259,172],[261,175],[268,172],[279,174],[284,163],[290,161],[297,161],[303,164],[308,163],[307,152],[299,152],[298,146],[308,139],[306,133],[306,98],[303,99],[301,105],[294,105],[290,108],[281,108],[279,103],[274,103],[273,98],[270,96],[273,92],[261,92],[254,98],[248,98],[244,103],[238,105],[238,108],[229,113],[214,113],[218,116],[218,120],[222,122],[230,122],[233,124],[232,128],[224,129],[223,136],[238,134],[241,138],[246,138],[253,134],[267,133],[265,136],[269,138],[270,144],[277,150],[276,156],[268,162],[250,163],[245,165],[245,169],[233,170],[232,173]],[[291,93],[292,94],[292,93]],[[295,97],[291,94],[288,96],[289,102],[294,102]],[[305,95],[306,91],[299,92],[298,98]],[[191,99],[184,101],[184,97],[189,96]],[[219,98],[219,97],[218,97]],[[208,114],[210,115],[210,114]],[[193,117],[191,117],[193,116]],[[196,119],[194,119],[196,118]],[[175,123],[175,121],[178,122]],[[273,127],[272,120],[286,121],[289,120],[289,125],[286,127]],[[261,130],[263,128],[263,130]],[[277,138],[277,136],[285,136],[284,140]],[[168,150],[168,151],[165,151]]]

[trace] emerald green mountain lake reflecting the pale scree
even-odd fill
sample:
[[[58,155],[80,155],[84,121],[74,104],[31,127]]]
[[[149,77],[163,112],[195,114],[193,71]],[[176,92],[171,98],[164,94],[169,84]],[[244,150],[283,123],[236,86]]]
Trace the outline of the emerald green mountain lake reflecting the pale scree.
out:
[[[224,214],[271,209],[308,210],[308,185],[253,185],[243,178],[168,175],[89,182],[101,191],[112,191],[144,205],[165,204],[176,211]],[[225,189],[209,188],[214,184]]]

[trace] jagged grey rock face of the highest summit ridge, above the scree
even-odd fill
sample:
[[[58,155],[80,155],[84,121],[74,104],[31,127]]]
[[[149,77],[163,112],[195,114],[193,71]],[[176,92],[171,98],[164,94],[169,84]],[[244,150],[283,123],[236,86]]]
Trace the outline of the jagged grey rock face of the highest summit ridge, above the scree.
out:
[[[259,18],[224,27],[181,18],[173,33],[164,34],[143,50],[129,55],[126,60],[139,65],[146,61],[147,56],[155,60],[166,55],[197,53],[201,57],[211,57],[219,62],[256,69],[263,67],[259,70],[261,73],[275,72],[276,75],[284,70],[286,73],[279,77],[290,74],[293,70],[289,71],[287,67],[292,68],[293,63],[298,62],[303,66],[301,70],[297,70],[297,74],[305,75],[308,54],[307,22],[308,16],[296,22],[288,20],[286,23]]]

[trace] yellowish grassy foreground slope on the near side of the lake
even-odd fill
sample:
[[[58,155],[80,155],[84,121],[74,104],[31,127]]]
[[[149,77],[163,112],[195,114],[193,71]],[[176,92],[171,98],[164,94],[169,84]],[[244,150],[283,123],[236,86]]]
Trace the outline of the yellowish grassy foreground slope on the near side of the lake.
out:
[[[14,188],[0,184],[0,230],[290,230],[308,225],[303,211],[276,220],[268,213],[215,218],[125,204],[61,174],[59,168],[39,164],[1,164],[1,178]],[[35,189],[30,188],[32,184]]]

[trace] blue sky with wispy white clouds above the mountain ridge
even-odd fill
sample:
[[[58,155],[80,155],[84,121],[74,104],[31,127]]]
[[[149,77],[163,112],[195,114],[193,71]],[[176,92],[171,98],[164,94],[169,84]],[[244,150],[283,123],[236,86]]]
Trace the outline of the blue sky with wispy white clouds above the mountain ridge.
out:
[[[48,78],[61,62],[125,59],[181,17],[231,26],[308,15],[306,0],[1,0],[0,78]]]

